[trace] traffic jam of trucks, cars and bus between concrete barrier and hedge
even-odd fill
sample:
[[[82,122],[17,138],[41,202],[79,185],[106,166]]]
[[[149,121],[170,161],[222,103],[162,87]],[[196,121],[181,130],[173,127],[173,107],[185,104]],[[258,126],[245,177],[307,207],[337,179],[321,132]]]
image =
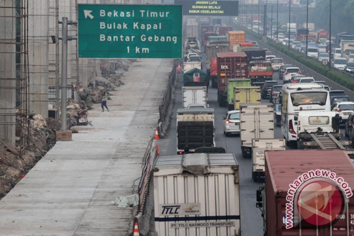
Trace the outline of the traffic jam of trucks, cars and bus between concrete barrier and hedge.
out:
[[[158,235],[354,235],[354,102],[243,30],[184,34]]]

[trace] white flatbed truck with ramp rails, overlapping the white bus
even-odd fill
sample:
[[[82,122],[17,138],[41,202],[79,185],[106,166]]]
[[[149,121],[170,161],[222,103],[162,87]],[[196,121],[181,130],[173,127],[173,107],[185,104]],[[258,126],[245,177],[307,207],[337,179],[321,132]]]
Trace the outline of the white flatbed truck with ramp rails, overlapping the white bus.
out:
[[[350,141],[340,141],[340,117],[335,111],[299,111],[294,116],[297,125],[298,149],[342,149]]]

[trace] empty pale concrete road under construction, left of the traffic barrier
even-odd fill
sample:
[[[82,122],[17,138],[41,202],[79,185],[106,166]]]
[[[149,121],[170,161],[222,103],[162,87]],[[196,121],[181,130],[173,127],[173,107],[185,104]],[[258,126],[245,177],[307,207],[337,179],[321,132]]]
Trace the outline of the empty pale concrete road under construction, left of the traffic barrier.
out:
[[[132,194],[133,180],[159,119],[171,59],[139,59],[112,92],[110,112],[95,104],[93,127],[58,142],[0,201],[1,236],[120,236],[132,208],[110,202]]]

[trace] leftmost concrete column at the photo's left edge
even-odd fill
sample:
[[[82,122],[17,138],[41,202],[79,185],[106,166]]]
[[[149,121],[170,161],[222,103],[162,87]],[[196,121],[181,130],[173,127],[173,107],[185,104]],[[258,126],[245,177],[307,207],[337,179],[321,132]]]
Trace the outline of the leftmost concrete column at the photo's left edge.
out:
[[[16,4],[0,1],[0,139],[15,143]]]

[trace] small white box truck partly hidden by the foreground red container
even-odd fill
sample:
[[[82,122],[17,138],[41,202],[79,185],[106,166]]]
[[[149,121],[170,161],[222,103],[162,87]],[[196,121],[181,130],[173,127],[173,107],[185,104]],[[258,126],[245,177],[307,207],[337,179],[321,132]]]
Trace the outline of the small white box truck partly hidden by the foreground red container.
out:
[[[264,151],[285,150],[285,139],[252,138],[252,179],[255,182],[264,179]]]

